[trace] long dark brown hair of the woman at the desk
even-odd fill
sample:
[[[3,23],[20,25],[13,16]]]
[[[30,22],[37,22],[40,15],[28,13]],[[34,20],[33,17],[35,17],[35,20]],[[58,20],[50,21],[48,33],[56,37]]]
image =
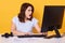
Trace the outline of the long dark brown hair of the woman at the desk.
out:
[[[17,16],[21,23],[25,23],[25,11],[28,6],[31,6],[31,9],[32,9],[31,12],[34,13],[34,6],[30,3],[23,3],[21,5],[21,11]],[[29,18],[29,20],[31,20],[31,18],[32,18],[32,13],[31,13],[31,17]]]

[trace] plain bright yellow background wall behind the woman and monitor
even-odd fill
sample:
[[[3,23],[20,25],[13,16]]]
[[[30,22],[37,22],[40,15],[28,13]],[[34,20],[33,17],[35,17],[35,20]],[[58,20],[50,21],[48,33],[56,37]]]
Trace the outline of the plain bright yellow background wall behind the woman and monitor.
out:
[[[0,33],[11,31],[11,19],[20,13],[21,4],[24,2],[29,2],[35,6],[34,16],[39,19],[40,27],[44,5],[65,5],[64,0],[0,0]],[[65,14],[60,32],[65,32]]]

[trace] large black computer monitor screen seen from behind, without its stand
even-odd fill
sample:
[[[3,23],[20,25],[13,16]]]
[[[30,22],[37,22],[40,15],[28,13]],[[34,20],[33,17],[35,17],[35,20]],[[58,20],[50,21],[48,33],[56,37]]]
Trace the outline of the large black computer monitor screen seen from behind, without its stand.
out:
[[[64,5],[46,5],[41,32],[52,31],[54,28],[61,29],[63,16],[64,16]]]

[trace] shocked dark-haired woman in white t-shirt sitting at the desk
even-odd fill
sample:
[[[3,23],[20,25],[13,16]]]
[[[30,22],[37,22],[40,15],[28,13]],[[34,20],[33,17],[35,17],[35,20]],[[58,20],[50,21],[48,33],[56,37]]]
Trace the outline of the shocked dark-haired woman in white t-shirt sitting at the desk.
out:
[[[32,34],[32,28],[40,33],[38,20],[32,17],[34,6],[30,3],[23,3],[20,14],[12,19],[11,30],[14,35]]]

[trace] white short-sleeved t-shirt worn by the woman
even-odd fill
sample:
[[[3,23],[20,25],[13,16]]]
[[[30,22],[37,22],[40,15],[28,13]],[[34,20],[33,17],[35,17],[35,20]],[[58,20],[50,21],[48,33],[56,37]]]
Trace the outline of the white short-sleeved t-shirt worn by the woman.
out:
[[[31,20],[21,23],[17,16],[13,17],[12,22],[15,24],[16,30],[22,32],[32,32],[34,26],[38,23],[35,17]]]

